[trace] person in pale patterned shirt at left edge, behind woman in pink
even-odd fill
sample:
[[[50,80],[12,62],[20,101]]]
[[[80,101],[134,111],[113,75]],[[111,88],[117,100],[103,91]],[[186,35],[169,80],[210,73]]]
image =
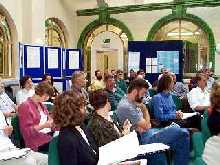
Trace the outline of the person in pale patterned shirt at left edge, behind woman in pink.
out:
[[[0,78],[0,111],[7,118],[7,123],[10,125],[10,118],[16,115],[17,106],[8,97],[4,90],[4,84]]]

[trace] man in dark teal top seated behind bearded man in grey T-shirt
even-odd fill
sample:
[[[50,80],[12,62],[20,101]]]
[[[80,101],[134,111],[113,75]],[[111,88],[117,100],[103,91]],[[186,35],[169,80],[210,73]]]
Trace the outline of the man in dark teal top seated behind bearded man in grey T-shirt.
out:
[[[111,104],[111,111],[115,111],[119,101],[125,95],[125,93],[123,90],[121,90],[121,88],[115,88],[115,80],[110,74],[105,77],[105,85],[105,91],[108,94],[108,100]]]

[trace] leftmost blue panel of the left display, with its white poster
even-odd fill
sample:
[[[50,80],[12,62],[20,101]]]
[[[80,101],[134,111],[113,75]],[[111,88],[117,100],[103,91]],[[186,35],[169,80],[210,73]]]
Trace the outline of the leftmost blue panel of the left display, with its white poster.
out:
[[[24,45],[24,75],[32,78],[44,75],[44,47]]]

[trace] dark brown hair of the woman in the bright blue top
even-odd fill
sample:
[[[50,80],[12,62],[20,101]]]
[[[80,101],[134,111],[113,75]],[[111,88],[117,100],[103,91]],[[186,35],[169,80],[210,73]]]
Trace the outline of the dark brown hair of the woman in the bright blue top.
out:
[[[170,87],[173,78],[171,75],[163,75],[158,81],[157,92],[163,92],[164,90],[168,90]]]

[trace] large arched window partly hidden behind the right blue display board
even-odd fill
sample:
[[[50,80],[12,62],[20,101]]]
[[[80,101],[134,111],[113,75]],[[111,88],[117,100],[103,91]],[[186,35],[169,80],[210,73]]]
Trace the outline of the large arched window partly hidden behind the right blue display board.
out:
[[[208,36],[193,22],[176,19],[163,25],[154,35],[155,41],[185,41],[184,72],[193,73],[210,65]],[[209,66],[211,67],[211,66]]]

